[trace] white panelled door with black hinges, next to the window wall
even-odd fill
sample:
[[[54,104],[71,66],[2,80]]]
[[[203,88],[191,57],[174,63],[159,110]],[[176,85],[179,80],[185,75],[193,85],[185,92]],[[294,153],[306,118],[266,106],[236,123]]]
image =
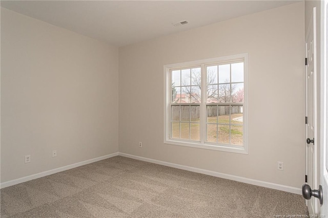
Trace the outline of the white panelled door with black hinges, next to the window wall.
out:
[[[316,147],[316,121],[317,121],[317,95],[316,95],[316,77],[317,77],[317,57],[316,57],[316,8],[313,8],[309,29],[305,37],[305,58],[307,65],[306,72],[306,142],[305,142],[305,175],[307,176],[308,185],[311,188],[317,188],[317,147]],[[318,214],[319,206],[316,198],[311,198],[306,201],[310,214]]]

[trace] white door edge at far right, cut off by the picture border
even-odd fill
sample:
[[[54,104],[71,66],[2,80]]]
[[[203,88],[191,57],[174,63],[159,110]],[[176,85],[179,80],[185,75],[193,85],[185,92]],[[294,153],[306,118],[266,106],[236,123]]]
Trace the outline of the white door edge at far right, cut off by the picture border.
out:
[[[320,217],[328,217],[328,0],[321,2],[321,37],[322,37],[322,71],[321,71],[321,155],[320,155],[320,184],[323,190],[323,204],[320,208]]]

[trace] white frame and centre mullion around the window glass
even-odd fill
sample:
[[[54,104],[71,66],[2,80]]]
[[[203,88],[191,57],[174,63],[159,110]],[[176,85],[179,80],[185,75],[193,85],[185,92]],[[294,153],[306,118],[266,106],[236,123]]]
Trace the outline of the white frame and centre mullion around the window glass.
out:
[[[243,102],[243,145],[231,145],[231,144],[217,144],[205,142],[206,138],[206,92],[203,88],[206,87],[206,73],[204,73],[205,66],[209,64],[216,64],[222,62],[232,62],[235,60],[244,61],[244,102]],[[185,139],[173,139],[170,138],[170,98],[171,98],[171,80],[170,70],[177,68],[192,68],[194,66],[200,66],[201,68],[201,103],[200,103],[200,142],[185,140]],[[189,146],[196,148],[204,148],[211,150],[229,151],[240,154],[248,154],[248,53],[230,55],[224,57],[195,60],[182,63],[167,64],[164,67],[164,144],[173,144],[180,146]]]

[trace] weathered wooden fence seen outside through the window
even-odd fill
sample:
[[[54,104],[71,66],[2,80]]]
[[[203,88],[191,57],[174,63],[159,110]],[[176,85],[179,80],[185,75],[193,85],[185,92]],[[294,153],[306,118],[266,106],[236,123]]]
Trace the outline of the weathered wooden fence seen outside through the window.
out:
[[[230,108],[231,108],[231,114],[240,114],[242,113],[242,105],[236,105],[236,106],[207,106],[207,116],[208,117],[216,117],[221,115],[229,115],[230,114]],[[181,105],[181,106],[172,106],[172,120],[179,120],[179,116],[181,113],[181,120],[197,120],[199,119],[200,113],[199,113],[200,107],[199,106],[193,106],[193,105]]]

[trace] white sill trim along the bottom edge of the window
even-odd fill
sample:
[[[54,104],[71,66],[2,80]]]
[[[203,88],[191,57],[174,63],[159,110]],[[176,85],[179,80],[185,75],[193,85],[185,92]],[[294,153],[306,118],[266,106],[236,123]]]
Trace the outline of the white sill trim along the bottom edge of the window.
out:
[[[196,147],[196,148],[209,149],[209,150],[219,150],[219,151],[226,151],[226,152],[233,152],[233,153],[248,155],[247,146],[211,144],[211,143],[201,144],[200,142],[199,143],[194,142],[194,141],[186,142],[186,141],[179,141],[179,140],[173,140],[173,139],[164,140],[164,144]]]

